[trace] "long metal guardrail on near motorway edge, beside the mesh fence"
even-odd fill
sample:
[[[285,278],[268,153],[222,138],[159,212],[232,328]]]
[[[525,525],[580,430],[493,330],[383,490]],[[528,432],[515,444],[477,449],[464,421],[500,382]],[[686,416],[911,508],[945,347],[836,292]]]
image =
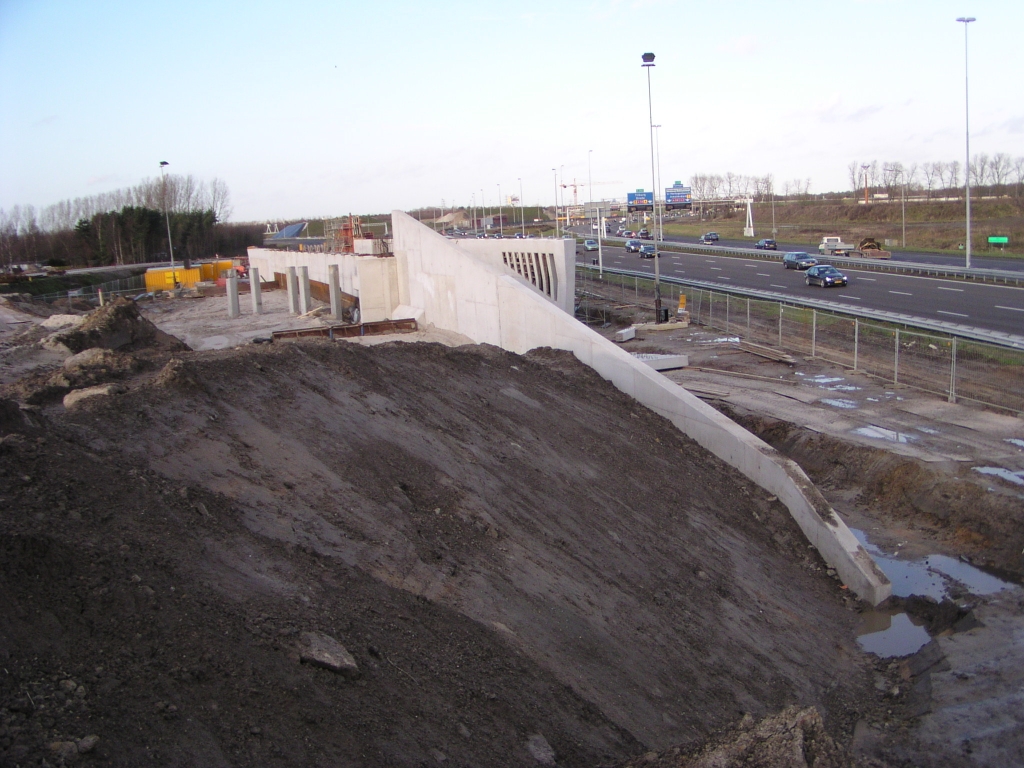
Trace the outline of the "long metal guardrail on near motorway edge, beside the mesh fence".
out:
[[[577,267],[590,271],[597,270],[597,267],[591,264],[577,263]],[[628,278],[637,278],[647,281],[652,281],[654,278],[654,275],[650,272],[642,272],[635,269],[604,267],[604,271],[609,274],[621,274]],[[972,341],[982,341],[986,344],[994,344],[997,346],[1008,347],[1010,349],[1024,349],[1024,336],[1014,336],[999,331],[986,331],[981,328],[961,326],[955,323],[946,323],[944,321],[930,321],[927,317],[919,317],[913,314],[903,314],[901,312],[889,312],[883,309],[862,309],[860,307],[851,307],[847,304],[828,301],[827,299],[802,299],[787,294],[778,293],[776,291],[761,291],[754,288],[722,286],[720,283],[712,283],[709,281],[687,280],[685,278],[673,278],[666,276],[664,274],[660,280],[663,283],[669,283],[677,286],[690,286],[692,288],[701,288],[709,291],[717,291],[718,293],[731,294],[733,296],[743,296],[751,299],[774,301],[788,306],[800,306],[808,309],[824,309],[829,312],[835,312],[836,314],[845,314],[851,317],[862,317],[864,319],[873,319],[883,323],[894,323],[906,328],[915,328],[922,331],[942,333],[948,336],[970,339]]]

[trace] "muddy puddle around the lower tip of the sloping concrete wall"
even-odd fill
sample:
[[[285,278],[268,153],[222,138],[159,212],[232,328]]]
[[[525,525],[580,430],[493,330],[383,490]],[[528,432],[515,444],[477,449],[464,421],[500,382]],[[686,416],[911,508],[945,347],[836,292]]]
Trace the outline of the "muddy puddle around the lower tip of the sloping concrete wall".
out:
[[[863,530],[851,528],[857,541],[871,553],[889,577],[893,595],[921,595],[935,600],[950,598],[950,589],[961,585],[975,595],[992,595],[1016,585],[979,570],[946,555],[929,555],[921,560],[901,560],[867,541]],[[928,632],[903,611],[868,610],[862,614],[857,642],[868,653],[888,658],[915,653],[929,641]]]

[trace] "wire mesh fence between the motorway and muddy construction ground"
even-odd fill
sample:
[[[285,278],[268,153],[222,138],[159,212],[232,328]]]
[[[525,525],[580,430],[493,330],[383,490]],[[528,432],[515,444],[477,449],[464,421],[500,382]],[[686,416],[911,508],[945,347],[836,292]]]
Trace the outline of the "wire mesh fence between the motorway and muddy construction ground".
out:
[[[580,312],[607,319],[608,303],[650,309],[654,284],[605,272],[596,280],[577,273]],[[769,344],[805,357],[818,357],[894,384],[1024,412],[1024,351],[915,330],[907,325],[869,322],[839,312],[721,291],[662,283],[662,300],[672,312],[686,297],[691,322]]]

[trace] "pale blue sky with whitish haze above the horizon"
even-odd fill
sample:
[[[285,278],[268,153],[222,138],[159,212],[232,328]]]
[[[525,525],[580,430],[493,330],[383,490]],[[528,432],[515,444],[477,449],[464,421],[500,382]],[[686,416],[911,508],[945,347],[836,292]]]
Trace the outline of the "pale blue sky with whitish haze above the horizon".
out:
[[[0,0],[0,208],[168,170],[234,221],[1024,156],[1020,0]],[[552,169],[555,169],[553,171]],[[571,189],[567,190],[568,198]]]

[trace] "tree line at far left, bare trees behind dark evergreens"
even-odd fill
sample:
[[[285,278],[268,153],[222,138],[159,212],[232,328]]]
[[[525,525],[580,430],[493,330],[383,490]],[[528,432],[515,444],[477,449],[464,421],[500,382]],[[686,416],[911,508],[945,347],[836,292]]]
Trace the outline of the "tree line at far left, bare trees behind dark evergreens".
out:
[[[167,218],[165,219],[165,204]],[[259,224],[228,224],[230,196],[219,180],[168,175],[101,195],[65,200],[37,212],[0,209],[0,265],[138,264],[169,257],[167,220],[175,259],[245,253],[262,242]]]

